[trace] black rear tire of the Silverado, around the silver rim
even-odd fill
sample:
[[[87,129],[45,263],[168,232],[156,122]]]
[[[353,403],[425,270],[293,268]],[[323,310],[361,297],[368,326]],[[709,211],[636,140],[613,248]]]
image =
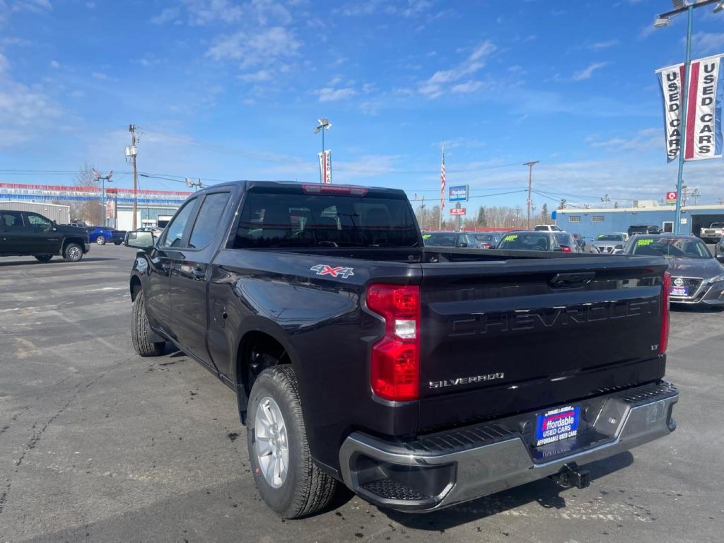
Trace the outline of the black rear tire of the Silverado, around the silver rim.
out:
[[[259,455],[257,446],[258,442],[260,447],[263,447],[264,443],[268,443],[267,446],[270,448],[274,447],[271,441],[257,440],[257,426],[264,431],[264,426],[257,423],[257,413],[260,413],[261,418],[264,418],[264,413],[269,413],[273,408],[269,400],[276,405],[282,416],[284,435],[282,439],[279,437],[277,439],[282,442],[282,448],[286,443],[288,452],[285,476],[279,478],[281,481],[272,478],[271,482],[265,476],[265,471],[262,471],[264,468],[262,457],[273,460],[274,453]],[[261,499],[282,518],[300,518],[325,508],[329,500],[332,500],[337,481],[321,471],[311,458],[302,418],[297,377],[292,366],[274,366],[262,371],[251,389],[248,405],[247,446],[251,473]]]

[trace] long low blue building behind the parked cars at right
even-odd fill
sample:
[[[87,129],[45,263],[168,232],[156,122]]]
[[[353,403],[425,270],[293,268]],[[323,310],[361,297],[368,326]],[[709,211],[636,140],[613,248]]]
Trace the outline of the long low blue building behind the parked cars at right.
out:
[[[594,239],[605,232],[626,232],[632,224],[654,224],[664,232],[673,232],[675,209],[674,206],[558,209],[552,218],[561,230]],[[712,222],[724,222],[724,206],[684,206],[679,233],[699,235],[699,230]]]

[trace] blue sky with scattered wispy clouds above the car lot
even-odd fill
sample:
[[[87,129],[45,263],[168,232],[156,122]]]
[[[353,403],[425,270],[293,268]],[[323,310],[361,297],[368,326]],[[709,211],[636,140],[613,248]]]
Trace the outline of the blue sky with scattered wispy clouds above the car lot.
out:
[[[471,207],[555,198],[662,198],[654,70],[683,60],[667,0],[0,0],[0,181],[70,184],[84,162],[208,180],[319,179],[329,117],[334,182]],[[724,14],[696,10],[694,57],[724,52]],[[721,161],[687,164],[701,202],[724,198]],[[128,187],[130,175],[117,174]],[[142,188],[181,183],[140,179]],[[556,194],[552,194],[556,193]]]

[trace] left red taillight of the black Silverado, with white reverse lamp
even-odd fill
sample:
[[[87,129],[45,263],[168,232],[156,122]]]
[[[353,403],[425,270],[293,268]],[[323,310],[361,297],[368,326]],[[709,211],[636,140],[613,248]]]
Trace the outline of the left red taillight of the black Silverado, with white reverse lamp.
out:
[[[367,307],[384,319],[384,337],[372,346],[372,391],[385,400],[416,400],[420,391],[420,288],[371,285]]]

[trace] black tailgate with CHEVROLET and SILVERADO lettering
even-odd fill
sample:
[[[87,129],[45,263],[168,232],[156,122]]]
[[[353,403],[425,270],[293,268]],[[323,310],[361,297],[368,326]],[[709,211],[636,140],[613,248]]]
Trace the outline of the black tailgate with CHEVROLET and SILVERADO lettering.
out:
[[[424,264],[419,430],[660,379],[660,258]]]

